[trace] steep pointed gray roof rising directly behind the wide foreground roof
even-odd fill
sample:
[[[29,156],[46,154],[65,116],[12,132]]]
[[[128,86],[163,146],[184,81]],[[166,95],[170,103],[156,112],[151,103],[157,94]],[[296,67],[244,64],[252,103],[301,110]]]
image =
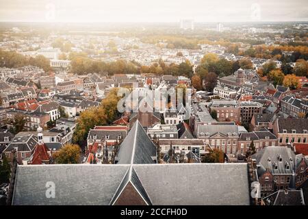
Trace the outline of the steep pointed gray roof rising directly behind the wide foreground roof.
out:
[[[155,164],[156,146],[144,131],[139,120],[134,123],[116,155],[117,164]]]

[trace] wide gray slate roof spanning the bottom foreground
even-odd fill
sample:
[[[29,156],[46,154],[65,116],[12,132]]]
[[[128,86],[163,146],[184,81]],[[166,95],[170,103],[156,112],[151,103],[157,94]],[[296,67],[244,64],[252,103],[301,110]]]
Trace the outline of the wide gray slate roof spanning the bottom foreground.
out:
[[[124,179],[129,168],[131,182],[153,205],[250,204],[246,164],[18,166],[12,203],[110,205],[121,182],[129,179]],[[55,183],[55,198],[46,197],[48,181]]]

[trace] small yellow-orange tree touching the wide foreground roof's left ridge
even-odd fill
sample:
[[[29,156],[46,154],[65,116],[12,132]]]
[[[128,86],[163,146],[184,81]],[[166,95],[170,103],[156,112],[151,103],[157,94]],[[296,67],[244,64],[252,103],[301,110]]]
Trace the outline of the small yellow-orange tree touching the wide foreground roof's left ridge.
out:
[[[77,144],[66,144],[53,157],[56,164],[79,164],[81,149]]]

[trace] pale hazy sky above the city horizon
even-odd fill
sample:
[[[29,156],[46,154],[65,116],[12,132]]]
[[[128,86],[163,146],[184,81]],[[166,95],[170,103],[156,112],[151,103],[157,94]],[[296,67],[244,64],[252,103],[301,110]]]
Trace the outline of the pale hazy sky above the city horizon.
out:
[[[0,0],[0,21],[308,21],[307,0]]]

